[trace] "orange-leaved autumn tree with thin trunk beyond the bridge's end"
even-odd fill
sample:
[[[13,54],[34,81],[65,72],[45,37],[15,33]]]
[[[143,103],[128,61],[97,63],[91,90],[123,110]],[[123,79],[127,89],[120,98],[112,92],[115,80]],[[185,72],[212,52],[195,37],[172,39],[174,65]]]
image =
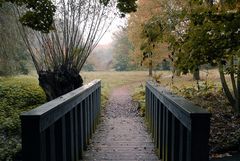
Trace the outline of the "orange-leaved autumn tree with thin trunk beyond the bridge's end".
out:
[[[152,68],[167,59],[169,54],[167,45],[162,41],[162,21],[158,19],[161,15],[162,5],[157,0],[138,1],[138,11],[132,13],[128,21],[128,34],[134,46],[133,56],[135,61]]]

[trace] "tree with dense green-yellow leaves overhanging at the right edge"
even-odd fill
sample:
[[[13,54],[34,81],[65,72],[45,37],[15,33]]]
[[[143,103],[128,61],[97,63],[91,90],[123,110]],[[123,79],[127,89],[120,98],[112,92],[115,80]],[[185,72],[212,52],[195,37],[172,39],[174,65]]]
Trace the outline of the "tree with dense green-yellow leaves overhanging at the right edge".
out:
[[[197,3],[187,16],[189,26],[179,43],[176,64],[188,70],[211,63],[219,68],[223,90],[236,113],[240,112],[239,2]],[[231,78],[231,86],[225,76]]]

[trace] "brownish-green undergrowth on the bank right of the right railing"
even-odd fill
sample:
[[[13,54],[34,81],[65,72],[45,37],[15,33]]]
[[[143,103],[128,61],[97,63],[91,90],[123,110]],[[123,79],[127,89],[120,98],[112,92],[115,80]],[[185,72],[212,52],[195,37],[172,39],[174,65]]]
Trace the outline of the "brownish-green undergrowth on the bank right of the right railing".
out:
[[[214,84],[199,84],[199,87],[184,87],[174,92],[212,113],[210,124],[210,156],[239,151],[240,117],[234,113],[222,88]]]

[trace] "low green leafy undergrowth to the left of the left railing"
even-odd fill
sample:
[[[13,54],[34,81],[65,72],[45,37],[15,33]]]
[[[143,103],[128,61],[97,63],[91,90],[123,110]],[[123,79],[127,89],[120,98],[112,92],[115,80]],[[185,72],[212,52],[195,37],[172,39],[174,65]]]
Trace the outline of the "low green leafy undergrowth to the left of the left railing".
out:
[[[46,102],[34,77],[0,77],[0,160],[15,160],[21,151],[19,115]]]

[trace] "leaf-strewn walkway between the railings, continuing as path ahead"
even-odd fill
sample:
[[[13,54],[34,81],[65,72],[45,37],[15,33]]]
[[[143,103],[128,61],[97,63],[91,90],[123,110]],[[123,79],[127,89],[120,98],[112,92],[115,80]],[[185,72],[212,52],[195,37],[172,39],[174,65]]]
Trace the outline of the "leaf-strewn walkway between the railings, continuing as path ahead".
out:
[[[112,91],[83,160],[158,160],[130,88],[122,86]]]

